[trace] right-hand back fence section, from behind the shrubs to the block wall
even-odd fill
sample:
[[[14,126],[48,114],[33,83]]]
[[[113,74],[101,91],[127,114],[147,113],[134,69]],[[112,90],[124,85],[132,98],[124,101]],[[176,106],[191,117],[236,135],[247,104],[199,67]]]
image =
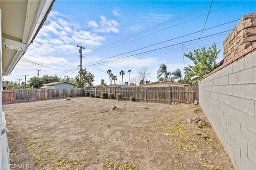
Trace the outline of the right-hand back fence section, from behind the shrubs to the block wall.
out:
[[[101,92],[121,93],[123,99],[129,100],[134,96],[138,101],[153,103],[169,103],[172,102],[193,102],[198,100],[198,85],[189,87],[127,87],[127,88],[85,88],[85,91],[94,95],[100,95]]]

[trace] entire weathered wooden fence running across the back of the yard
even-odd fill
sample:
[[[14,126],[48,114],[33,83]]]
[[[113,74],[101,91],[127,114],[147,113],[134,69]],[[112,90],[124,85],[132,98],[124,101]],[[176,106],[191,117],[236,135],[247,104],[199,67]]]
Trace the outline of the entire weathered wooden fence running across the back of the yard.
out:
[[[153,103],[193,102],[198,100],[198,86],[189,87],[127,87],[127,88],[74,88],[74,89],[15,89],[3,91],[3,104],[45,99],[79,97],[88,91],[94,95],[101,92],[121,93],[123,99],[134,96],[137,101]]]

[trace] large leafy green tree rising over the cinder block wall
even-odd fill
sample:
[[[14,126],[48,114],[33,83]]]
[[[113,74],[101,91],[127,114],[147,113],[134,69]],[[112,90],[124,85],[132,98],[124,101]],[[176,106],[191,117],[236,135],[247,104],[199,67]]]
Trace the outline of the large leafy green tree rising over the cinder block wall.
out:
[[[207,50],[205,47],[202,47],[201,49],[195,49],[194,53],[189,52],[185,54],[194,63],[194,66],[188,65],[184,68],[185,79],[189,80],[189,82],[198,81],[205,74],[213,71],[218,66],[216,60],[219,53],[220,49],[218,50],[214,43]]]

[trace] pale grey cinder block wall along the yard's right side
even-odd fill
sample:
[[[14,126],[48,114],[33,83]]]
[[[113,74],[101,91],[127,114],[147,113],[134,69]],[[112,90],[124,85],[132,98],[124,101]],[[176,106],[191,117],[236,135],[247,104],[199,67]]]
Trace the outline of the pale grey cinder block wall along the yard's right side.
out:
[[[256,15],[254,13],[247,16],[255,18]],[[249,19],[247,16],[242,18],[242,22],[239,21],[238,26],[244,22],[244,19]],[[234,30],[236,29],[237,26]],[[254,35],[252,37],[254,38]],[[241,42],[238,41],[232,45],[233,48],[229,48],[234,51],[240,45]],[[225,43],[224,48],[227,49]],[[226,56],[228,60],[222,66],[205,75],[199,82],[199,104],[235,168],[254,170],[256,169],[256,44],[244,47],[236,55],[228,54],[231,56]]]

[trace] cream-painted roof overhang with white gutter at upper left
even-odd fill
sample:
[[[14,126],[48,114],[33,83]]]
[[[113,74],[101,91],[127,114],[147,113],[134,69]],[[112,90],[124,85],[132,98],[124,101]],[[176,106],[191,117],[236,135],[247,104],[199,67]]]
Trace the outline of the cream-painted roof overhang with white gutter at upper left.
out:
[[[25,54],[49,14],[54,0],[1,1],[3,75]]]

